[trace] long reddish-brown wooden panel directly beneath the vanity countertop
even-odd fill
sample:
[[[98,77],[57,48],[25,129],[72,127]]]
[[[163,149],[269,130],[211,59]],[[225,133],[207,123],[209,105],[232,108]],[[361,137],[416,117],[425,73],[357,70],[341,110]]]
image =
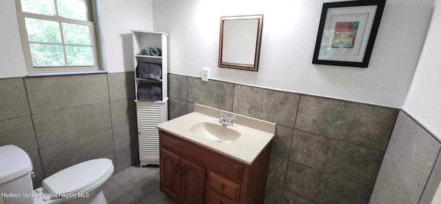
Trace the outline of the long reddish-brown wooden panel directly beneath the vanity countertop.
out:
[[[236,183],[242,183],[243,165],[205,147],[159,130],[160,146],[214,171]]]

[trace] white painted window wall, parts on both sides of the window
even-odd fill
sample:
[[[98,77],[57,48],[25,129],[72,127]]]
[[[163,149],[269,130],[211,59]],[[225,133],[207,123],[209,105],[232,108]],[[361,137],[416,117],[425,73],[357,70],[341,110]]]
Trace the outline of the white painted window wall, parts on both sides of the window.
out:
[[[103,68],[133,71],[132,29],[153,30],[152,0],[96,0]],[[0,1],[0,78],[27,74],[14,0]]]

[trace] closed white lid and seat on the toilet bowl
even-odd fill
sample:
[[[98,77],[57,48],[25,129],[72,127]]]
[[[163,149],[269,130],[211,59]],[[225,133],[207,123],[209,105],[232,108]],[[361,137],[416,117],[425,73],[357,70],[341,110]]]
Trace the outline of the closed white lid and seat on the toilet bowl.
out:
[[[93,159],[61,170],[44,179],[42,184],[53,194],[76,194],[100,186],[112,176],[113,170],[110,159]]]

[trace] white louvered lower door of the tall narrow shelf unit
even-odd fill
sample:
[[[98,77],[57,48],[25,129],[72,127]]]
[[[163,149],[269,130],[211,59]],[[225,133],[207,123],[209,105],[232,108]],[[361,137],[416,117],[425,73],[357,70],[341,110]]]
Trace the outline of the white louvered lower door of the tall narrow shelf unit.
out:
[[[159,132],[156,125],[167,121],[167,100],[136,101],[140,165],[159,165]]]

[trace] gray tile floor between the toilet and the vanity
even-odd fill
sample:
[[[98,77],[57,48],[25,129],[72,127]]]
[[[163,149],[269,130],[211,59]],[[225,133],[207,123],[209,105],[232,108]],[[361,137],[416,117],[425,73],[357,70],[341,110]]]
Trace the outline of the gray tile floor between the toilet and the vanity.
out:
[[[109,204],[167,204],[173,201],[159,190],[159,167],[139,165],[114,174],[103,187]]]

